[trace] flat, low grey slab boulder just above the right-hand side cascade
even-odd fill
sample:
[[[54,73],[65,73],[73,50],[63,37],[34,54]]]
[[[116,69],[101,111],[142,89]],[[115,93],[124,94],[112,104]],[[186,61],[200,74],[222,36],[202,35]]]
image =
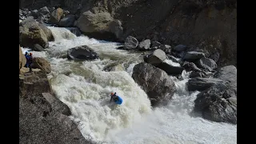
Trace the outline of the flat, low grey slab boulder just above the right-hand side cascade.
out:
[[[218,78],[191,78],[187,82],[187,88],[190,91],[194,90],[206,90],[211,86],[217,85],[219,83],[224,83],[221,79]]]

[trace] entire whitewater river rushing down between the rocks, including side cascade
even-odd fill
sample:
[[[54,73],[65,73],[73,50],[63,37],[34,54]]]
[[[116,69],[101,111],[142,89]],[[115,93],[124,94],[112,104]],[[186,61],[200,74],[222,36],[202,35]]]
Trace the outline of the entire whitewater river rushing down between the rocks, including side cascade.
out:
[[[190,114],[198,91],[186,90],[188,75],[170,77],[177,86],[168,106],[152,108],[146,93],[131,78],[133,67],[142,62],[140,53],[117,50],[115,42],[77,37],[65,28],[50,27],[55,41],[34,57],[46,58],[52,72],[48,74],[56,96],[70,107],[73,118],[85,138],[106,143],[237,143],[237,126],[210,122]],[[74,46],[90,46],[99,59],[73,62],[66,50]],[[22,49],[25,52],[26,48]],[[167,60],[174,66],[179,64]],[[120,64],[122,70],[104,71],[105,66]],[[121,106],[110,103],[110,93],[123,99]]]

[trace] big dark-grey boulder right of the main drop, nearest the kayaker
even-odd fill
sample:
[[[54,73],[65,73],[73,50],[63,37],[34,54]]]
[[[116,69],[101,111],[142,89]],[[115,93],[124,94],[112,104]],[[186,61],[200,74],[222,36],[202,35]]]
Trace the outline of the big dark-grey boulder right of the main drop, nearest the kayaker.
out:
[[[146,62],[134,66],[132,78],[146,92],[152,106],[166,104],[176,91],[174,82],[165,71]]]

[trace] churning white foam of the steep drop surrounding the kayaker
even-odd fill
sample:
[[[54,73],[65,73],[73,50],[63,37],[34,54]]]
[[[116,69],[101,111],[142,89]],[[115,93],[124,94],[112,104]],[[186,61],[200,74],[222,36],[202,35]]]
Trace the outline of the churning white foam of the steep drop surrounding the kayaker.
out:
[[[95,72],[95,71],[94,71]],[[82,134],[104,140],[109,131],[120,130],[140,121],[150,113],[150,101],[129,74],[100,71],[85,79],[82,76],[59,74],[51,81],[58,98],[69,107],[83,126]],[[123,99],[121,106],[112,105],[110,92]]]

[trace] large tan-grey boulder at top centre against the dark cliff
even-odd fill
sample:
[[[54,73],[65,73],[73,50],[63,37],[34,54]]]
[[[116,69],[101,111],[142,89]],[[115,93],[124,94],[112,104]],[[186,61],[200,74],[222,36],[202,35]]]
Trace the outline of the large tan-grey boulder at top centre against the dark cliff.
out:
[[[107,12],[94,14],[90,10],[86,11],[80,15],[75,26],[94,38],[114,40],[122,37],[122,23]]]

